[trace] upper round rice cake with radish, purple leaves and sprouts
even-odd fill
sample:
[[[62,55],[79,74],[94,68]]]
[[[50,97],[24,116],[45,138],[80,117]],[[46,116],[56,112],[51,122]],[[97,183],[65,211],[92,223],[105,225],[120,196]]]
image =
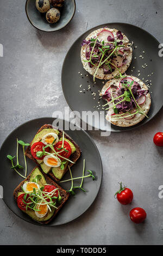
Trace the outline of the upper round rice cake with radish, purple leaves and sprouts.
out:
[[[132,48],[126,35],[111,28],[99,28],[82,42],[80,52],[84,69],[95,78],[110,80],[128,69]]]

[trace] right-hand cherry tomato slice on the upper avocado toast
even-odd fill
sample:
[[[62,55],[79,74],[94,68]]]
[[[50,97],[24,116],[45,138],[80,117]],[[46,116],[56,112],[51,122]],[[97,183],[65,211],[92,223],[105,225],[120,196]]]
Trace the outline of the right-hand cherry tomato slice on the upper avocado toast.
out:
[[[62,141],[59,141],[59,142],[58,142],[57,144],[55,144],[55,146],[54,146],[55,151],[56,151],[57,153],[59,153],[59,155],[60,155],[60,156],[58,156],[58,157],[60,158],[60,160],[64,160],[64,159],[62,158],[62,156],[68,159],[68,158],[70,157],[71,153],[72,153],[72,150],[71,150],[70,145],[68,144],[67,141],[64,141],[64,149],[65,149],[66,151],[65,151],[65,150],[62,151],[61,147],[62,147]],[[60,152],[60,151],[62,151],[62,152]]]

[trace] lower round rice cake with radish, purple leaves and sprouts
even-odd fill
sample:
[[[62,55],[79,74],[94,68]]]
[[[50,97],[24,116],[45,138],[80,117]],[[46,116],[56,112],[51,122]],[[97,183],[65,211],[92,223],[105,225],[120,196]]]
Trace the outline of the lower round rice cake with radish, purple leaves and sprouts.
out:
[[[145,83],[134,76],[112,79],[99,94],[107,103],[106,120],[117,126],[132,126],[148,117],[151,96]]]

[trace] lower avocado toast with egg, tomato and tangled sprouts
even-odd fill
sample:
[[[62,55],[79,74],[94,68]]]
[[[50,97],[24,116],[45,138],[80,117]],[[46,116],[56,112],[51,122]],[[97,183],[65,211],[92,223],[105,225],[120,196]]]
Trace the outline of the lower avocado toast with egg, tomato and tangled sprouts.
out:
[[[70,194],[55,183],[39,167],[14,190],[18,208],[33,220],[47,224],[66,203]]]

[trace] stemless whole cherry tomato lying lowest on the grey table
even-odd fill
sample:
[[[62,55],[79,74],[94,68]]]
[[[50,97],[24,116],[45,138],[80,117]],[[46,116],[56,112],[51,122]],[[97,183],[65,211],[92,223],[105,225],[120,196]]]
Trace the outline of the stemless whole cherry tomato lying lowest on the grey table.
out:
[[[146,211],[140,207],[136,207],[130,211],[130,219],[135,223],[141,223],[147,217]]]

